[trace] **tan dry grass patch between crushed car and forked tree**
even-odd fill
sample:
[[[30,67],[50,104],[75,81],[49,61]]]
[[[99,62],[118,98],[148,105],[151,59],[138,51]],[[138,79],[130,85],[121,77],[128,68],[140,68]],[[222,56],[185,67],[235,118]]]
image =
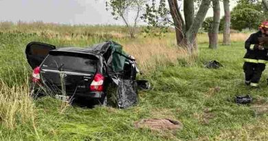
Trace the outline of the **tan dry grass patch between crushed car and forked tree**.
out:
[[[166,39],[157,38],[124,43],[124,50],[135,56],[143,72],[150,72],[159,65],[175,65],[179,59],[189,57],[187,50],[170,44]]]

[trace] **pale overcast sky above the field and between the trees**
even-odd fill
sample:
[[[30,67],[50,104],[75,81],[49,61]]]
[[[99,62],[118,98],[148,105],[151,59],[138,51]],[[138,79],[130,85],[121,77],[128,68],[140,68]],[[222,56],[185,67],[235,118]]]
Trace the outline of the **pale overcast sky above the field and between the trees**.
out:
[[[67,24],[122,24],[105,10],[106,0],[0,0],[0,21]],[[235,3],[231,3],[231,8]],[[223,6],[221,6],[223,15]],[[212,16],[210,9],[208,16]],[[131,17],[131,14],[129,15]]]

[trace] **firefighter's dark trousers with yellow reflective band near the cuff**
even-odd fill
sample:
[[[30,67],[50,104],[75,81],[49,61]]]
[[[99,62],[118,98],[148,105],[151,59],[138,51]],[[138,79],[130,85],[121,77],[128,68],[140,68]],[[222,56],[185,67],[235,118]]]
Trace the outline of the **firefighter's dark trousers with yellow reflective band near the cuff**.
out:
[[[265,70],[265,63],[249,63],[245,62],[243,66],[245,72],[245,80],[250,82],[252,86],[258,86],[260,77]]]

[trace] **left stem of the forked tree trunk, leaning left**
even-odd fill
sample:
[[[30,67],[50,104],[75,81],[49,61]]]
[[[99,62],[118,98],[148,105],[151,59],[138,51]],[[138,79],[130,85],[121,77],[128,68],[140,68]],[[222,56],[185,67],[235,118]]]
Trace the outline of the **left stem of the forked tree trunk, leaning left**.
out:
[[[176,40],[177,40],[177,45],[181,45],[183,43],[184,39],[184,22],[181,17],[181,14],[179,12],[179,7],[177,0],[168,0],[169,8],[170,8],[170,14],[172,16],[172,19],[174,21],[174,26],[175,26],[175,32],[176,32]]]

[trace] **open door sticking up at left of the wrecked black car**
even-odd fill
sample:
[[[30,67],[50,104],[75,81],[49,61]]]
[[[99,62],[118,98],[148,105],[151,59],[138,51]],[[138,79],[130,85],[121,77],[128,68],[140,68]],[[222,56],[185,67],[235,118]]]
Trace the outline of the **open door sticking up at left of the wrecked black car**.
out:
[[[49,54],[49,51],[55,49],[56,47],[54,45],[49,45],[46,43],[29,43],[26,46],[25,54],[32,69],[41,65],[45,57]]]

